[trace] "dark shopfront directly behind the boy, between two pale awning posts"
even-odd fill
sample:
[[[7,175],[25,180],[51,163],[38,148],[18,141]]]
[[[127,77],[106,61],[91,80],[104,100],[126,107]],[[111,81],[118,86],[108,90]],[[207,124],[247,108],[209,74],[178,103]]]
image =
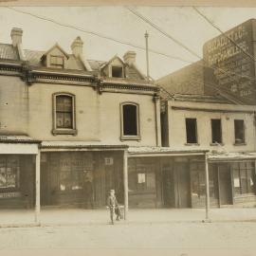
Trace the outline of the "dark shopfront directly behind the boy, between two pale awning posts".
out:
[[[121,150],[43,152],[42,206],[101,208],[111,189],[123,203],[122,161]]]

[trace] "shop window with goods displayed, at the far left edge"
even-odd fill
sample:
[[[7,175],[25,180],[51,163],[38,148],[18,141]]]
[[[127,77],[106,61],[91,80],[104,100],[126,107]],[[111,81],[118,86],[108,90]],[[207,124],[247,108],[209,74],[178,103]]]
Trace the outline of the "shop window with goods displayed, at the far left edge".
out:
[[[20,187],[20,163],[17,155],[0,157],[0,190],[16,190]]]

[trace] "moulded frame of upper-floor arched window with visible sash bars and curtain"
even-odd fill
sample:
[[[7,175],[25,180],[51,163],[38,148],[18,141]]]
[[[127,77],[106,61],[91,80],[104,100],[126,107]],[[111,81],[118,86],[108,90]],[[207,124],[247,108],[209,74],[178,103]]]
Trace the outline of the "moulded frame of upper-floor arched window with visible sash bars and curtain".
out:
[[[72,128],[57,128],[57,98],[59,96],[67,96],[72,99]],[[76,98],[74,94],[66,93],[66,92],[58,92],[52,95],[52,134],[56,135],[77,135],[76,129]]]

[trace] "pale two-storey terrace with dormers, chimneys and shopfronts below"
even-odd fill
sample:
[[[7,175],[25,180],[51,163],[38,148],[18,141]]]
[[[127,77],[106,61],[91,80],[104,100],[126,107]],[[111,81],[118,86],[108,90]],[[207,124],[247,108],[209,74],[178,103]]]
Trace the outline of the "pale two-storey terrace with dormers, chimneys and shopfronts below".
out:
[[[80,37],[68,53],[24,49],[22,35],[0,44],[0,206],[84,207],[90,183],[95,208],[110,189],[126,208],[164,207],[169,158],[182,169],[206,151],[161,147],[159,88],[136,52],[87,60]]]

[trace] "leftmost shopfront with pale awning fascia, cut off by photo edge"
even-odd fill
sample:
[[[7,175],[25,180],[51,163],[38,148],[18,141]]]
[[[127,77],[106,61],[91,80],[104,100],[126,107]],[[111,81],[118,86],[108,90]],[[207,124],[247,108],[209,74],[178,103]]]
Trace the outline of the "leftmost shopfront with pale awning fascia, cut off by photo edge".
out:
[[[37,154],[29,137],[0,137],[0,209],[35,206]]]

